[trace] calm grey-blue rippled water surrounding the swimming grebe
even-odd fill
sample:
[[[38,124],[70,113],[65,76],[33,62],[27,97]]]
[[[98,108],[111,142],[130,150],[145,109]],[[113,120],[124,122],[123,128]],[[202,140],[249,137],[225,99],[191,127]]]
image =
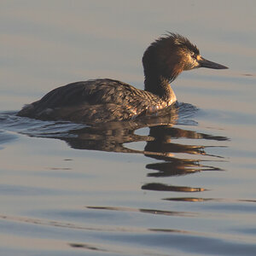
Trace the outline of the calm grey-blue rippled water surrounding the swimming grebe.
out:
[[[256,3],[1,1],[0,255],[256,255]],[[56,86],[143,88],[166,31],[229,70],[174,83],[165,118],[18,118]]]

